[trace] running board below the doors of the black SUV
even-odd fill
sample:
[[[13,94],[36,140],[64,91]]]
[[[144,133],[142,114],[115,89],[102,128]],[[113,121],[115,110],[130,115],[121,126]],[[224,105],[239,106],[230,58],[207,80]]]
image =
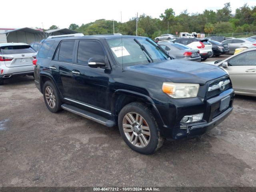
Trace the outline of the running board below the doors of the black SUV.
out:
[[[109,119],[104,118],[102,116],[93,114],[91,112],[88,112],[86,110],[82,110],[80,108],[77,108],[77,107],[74,107],[74,106],[71,106],[71,105],[68,105],[68,104],[62,104],[61,108],[64,109],[64,110],[67,110],[69,112],[72,112],[74,114],[80,115],[80,116],[88,118],[90,120],[93,120],[95,122],[98,122],[102,125],[108,126],[108,127],[113,127],[113,126],[116,125],[116,123],[112,120],[109,120]]]

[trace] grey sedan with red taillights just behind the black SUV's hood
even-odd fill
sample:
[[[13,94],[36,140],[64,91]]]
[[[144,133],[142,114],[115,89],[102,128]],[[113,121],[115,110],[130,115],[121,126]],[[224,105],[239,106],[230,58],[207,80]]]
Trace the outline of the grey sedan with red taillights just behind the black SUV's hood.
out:
[[[198,49],[191,49],[180,43],[159,42],[158,43],[174,59],[184,59],[189,61],[201,61]]]

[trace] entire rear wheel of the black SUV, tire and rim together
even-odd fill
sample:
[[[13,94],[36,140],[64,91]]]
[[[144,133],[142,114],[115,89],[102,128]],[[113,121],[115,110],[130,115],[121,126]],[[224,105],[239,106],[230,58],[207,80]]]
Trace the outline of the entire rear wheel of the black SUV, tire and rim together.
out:
[[[44,83],[43,95],[44,95],[44,102],[50,112],[56,113],[62,110],[61,108],[62,102],[60,100],[60,94],[56,86],[52,82],[46,81]]]

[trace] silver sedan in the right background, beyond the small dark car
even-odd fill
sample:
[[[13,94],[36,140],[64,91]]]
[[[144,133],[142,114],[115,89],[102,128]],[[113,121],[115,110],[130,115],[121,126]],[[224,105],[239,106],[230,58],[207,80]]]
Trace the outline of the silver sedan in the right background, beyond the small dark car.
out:
[[[228,44],[229,52],[234,53],[236,48],[251,48],[256,46],[256,42],[245,39],[228,39],[222,41],[222,44]]]

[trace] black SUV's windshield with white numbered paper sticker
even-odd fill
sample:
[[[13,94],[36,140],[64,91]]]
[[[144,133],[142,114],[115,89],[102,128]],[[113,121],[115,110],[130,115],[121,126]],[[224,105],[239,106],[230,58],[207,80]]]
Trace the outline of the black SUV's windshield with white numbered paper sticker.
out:
[[[107,40],[116,62],[122,66],[132,66],[168,60],[158,44],[149,38],[118,38]]]

